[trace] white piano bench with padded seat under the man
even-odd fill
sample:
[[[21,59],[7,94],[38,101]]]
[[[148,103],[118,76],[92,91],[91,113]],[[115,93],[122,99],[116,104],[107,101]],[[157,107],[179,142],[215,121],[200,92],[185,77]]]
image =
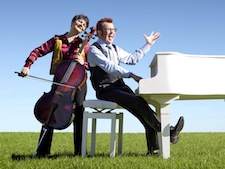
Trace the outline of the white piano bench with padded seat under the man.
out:
[[[83,129],[82,129],[82,147],[81,156],[86,156],[87,150],[87,129],[88,119],[92,119],[92,133],[91,133],[91,156],[95,154],[96,142],[96,122],[97,119],[111,119],[111,133],[110,133],[110,157],[115,157],[115,134],[116,134],[116,120],[119,120],[118,127],[118,154],[122,153],[122,134],[123,134],[123,113],[112,112],[118,108],[118,105],[111,101],[105,100],[86,100],[83,102],[85,108],[94,109],[93,112],[85,111],[83,114]]]

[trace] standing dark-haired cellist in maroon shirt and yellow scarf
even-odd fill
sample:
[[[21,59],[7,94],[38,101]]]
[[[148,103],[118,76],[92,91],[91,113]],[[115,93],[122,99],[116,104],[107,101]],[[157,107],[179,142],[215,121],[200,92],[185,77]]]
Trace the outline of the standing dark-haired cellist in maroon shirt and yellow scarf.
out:
[[[84,32],[89,26],[89,19],[83,14],[79,14],[73,17],[71,21],[71,27],[69,32],[62,35],[55,35],[41,46],[35,48],[25,61],[25,65],[22,68],[20,75],[25,77],[29,74],[30,67],[39,57],[45,56],[46,54],[53,52],[50,74],[54,75],[54,71],[57,65],[65,60],[73,60],[88,69],[88,63],[86,56],[90,45],[86,43],[84,50],[81,54],[77,51],[82,43],[82,39],[79,34]],[[55,85],[53,84],[52,87]],[[76,104],[74,113],[75,118],[73,121],[74,125],[74,153],[75,155],[81,154],[81,138],[82,138],[82,119],[83,119],[83,101],[85,100],[87,93],[87,85],[84,84],[81,90],[77,90],[74,102]],[[37,157],[47,157],[50,154],[53,128],[48,128],[45,133],[45,137],[37,149]],[[40,132],[40,138],[43,135],[43,126]],[[39,138],[39,140],[40,140]]]

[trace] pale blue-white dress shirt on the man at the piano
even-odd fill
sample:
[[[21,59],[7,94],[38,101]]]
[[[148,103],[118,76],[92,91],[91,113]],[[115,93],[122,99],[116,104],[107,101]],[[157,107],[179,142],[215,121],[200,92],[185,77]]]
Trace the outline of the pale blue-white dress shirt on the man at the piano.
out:
[[[109,56],[108,44],[101,39],[98,39],[97,43],[102,47],[105,55],[96,46],[92,45],[87,55],[89,66],[99,66],[107,73],[120,78],[128,78],[131,72],[121,67],[119,63],[135,65],[150,50],[150,46],[147,44],[142,48],[135,50],[133,53],[128,53],[116,46],[117,53],[115,52],[114,56]],[[112,50],[114,50],[113,46]],[[114,59],[112,59],[112,57],[114,57]]]

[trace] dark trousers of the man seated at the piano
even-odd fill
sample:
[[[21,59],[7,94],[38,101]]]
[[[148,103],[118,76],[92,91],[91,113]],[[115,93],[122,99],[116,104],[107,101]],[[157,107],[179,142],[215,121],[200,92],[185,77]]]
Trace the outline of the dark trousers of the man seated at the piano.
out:
[[[131,112],[143,124],[146,130],[148,151],[159,149],[156,128],[161,126],[157,114],[148,103],[124,84],[106,87],[98,92],[97,97],[102,100],[113,101]]]

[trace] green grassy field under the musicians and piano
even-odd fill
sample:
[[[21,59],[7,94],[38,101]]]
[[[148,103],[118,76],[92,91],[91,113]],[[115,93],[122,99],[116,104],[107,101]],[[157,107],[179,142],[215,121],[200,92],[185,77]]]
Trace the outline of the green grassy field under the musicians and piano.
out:
[[[32,159],[39,133],[0,132],[2,169],[222,169],[225,168],[225,133],[181,133],[171,144],[171,157],[145,156],[144,133],[123,134],[123,154],[109,157],[109,134],[97,134],[96,156],[74,157],[73,134],[54,133],[51,158]],[[90,135],[88,137],[90,152]],[[12,159],[15,154],[16,159]]]

